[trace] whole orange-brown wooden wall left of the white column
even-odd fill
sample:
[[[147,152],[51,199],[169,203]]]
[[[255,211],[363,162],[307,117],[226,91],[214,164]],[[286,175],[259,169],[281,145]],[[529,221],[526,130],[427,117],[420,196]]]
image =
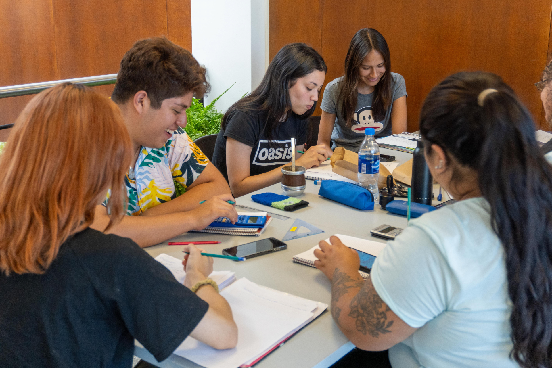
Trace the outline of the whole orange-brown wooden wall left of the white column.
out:
[[[0,86],[116,73],[132,44],[153,36],[192,49],[190,0],[0,0],[0,24]],[[31,98],[0,99],[0,125]],[[8,134],[0,130],[0,141]]]

